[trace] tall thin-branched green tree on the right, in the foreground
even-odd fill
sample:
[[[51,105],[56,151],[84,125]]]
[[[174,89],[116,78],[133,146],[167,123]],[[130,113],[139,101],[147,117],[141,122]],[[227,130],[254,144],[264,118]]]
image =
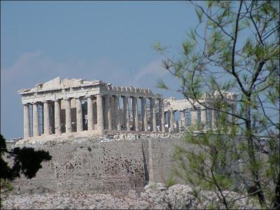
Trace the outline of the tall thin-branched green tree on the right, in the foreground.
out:
[[[165,67],[181,80],[183,95],[197,104],[203,93],[213,97],[218,92],[219,99],[207,108],[215,109],[219,120],[209,130],[194,125],[186,132],[186,143],[199,150],[176,147],[181,168],[176,175],[194,189],[214,190],[227,209],[236,206],[223,190],[253,190],[262,208],[279,208],[279,2],[192,3],[197,27],[189,30],[179,59],[167,59]],[[228,119],[231,103],[224,91],[239,92],[233,100],[235,121]]]

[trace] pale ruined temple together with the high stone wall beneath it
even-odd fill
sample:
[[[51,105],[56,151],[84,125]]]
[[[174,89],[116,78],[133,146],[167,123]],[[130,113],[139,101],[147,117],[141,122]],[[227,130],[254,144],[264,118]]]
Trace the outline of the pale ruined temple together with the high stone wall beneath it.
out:
[[[164,99],[146,88],[59,77],[18,93],[24,138],[8,147],[52,155],[34,179],[13,181],[19,193],[141,191],[149,181],[164,182],[172,176],[174,146],[196,149],[183,144],[183,130],[216,127],[218,115],[207,108],[221,96],[204,94],[197,103]],[[237,94],[223,97],[235,113]]]

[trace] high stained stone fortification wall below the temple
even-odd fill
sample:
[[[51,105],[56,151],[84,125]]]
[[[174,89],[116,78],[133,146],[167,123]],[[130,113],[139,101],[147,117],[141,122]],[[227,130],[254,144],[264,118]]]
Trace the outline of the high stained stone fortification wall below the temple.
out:
[[[14,192],[141,191],[148,181],[166,181],[171,176],[174,145],[180,142],[180,134],[103,134],[9,144],[10,148],[30,146],[52,155],[34,179],[22,176],[13,181]]]

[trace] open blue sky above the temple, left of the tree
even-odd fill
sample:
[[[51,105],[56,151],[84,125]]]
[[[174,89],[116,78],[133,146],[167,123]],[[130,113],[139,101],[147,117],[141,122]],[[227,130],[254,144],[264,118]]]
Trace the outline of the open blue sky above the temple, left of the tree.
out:
[[[196,23],[184,1],[1,1],[1,134],[23,136],[17,91],[57,76],[183,98],[156,87],[159,78],[179,85],[152,46],[159,41],[178,55]]]

